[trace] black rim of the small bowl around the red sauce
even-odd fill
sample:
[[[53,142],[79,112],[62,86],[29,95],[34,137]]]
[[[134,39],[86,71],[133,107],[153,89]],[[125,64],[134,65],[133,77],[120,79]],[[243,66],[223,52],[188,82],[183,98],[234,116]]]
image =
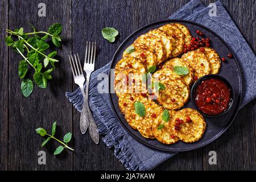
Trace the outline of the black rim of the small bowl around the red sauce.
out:
[[[223,112],[223,113],[220,113],[220,114],[216,114],[216,115],[209,115],[209,114],[205,114],[203,111],[201,111],[196,103],[195,103],[195,90],[197,88],[197,85],[199,85],[203,80],[208,80],[210,78],[217,78],[221,81],[224,81],[226,85],[228,85],[228,87],[230,88],[230,102],[229,102],[229,107]],[[197,80],[195,82],[195,84],[193,84],[192,88],[191,88],[191,93],[190,93],[190,96],[191,96],[191,100],[193,102],[193,105],[196,107],[196,110],[198,110],[202,115],[204,115],[205,117],[219,117],[221,115],[224,115],[226,113],[228,113],[228,111],[230,110],[232,104],[233,104],[233,100],[234,100],[234,89],[232,87],[232,85],[230,85],[229,81],[226,80],[226,78],[220,76],[220,75],[205,75],[201,78],[199,78],[199,80]]]

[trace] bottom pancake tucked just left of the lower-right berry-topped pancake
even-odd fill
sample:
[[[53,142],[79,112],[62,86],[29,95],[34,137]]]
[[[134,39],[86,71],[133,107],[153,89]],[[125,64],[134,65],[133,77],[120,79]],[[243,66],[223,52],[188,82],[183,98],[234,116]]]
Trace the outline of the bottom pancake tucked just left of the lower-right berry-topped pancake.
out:
[[[172,118],[174,117],[176,111],[168,110],[170,115],[170,120],[168,122],[164,122],[162,118],[155,120],[154,125],[152,127],[152,133],[154,137],[161,143],[164,144],[172,144],[179,141],[179,138],[175,136],[174,128],[171,125]],[[164,125],[162,129],[158,129],[160,125]],[[172,138],[174,137],[174,138]]]

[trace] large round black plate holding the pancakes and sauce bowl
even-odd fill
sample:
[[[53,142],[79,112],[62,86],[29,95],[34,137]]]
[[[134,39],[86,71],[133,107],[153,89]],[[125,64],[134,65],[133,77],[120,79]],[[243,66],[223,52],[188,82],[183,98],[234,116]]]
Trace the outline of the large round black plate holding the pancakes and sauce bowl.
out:
[[[224,40],[222,40],[220,36],[215,34],[213,31],[209,30],[207,27],[204,27],[198,23],[189,22],[185,20],[164,20],[162,22],[155,22],[152,24],[148,24],[147,26],[144,26],[142,28],[139,28],[137,31],[133,32],[133,34],[131,34],[128,38],[126,38],[125,41],[123,41],[123,43],[121,44],[121,46],[119,46],[119,48],[117,49],[117,51],[113,56],[112,64],[110,68],[114,69],[115,64],[117,64],[118,61],[121,59],[123,51],[125,51],[125,49],[129,47],[134,42],[134,40],[138,38],[139,35],[144,34],[149,30],[158,28],[160,26],[163,26],[164,24],[171,23],[171,22],[178,22],[187,26],[191,31],[192,36],[197,36],[196,30],[203,31],[205,34],[205,37],[210,38],[210,47],[214,48],[218,52],[220,57],[226,57],[226,61],[221,64],[221,69],[218,74],[226,78],[226,80],[230,82],[230,84],[233,86],[233,89],[234,89],[234,101],[228,113],[220,117],[214,117],[214,118],[204,117],[205,121],[207,122],[207,129],[205,130],[203,137],[195,143],[184,143],[179,141],[175,144],[163,144],[158,142],[158,140],[156,139],[144,138],[142,137],[141,134],[139,134],[138,131],[132,129],[127,124],[124,116],[121,114],[121,111],[119,110],[118,97],[115,94],[110,93],[109,98],[110,98],[110,103],[112,105],[112,109],[116,117],[118,118],[119,122],[126,129],[126,131],[129,134],[131,134],[135,139],[137,139],[139,142],[161,151],[170,151],[170,152],[189,151],[199,147],[203,147],[209,144],[210,142],[213,142],[213,140],[216,140],[218,137],[220,137],[220,135],[222,135],[224,131],[226,131],[226,129],[228,129],[228,127],[233,122],[238,111],[238,106],[240,105],[241,89],[242,89],[240,68],[238,67],[236,56],[234,56],[234,53],[228,47],[228,45],[224,42]],[[228,53],[232,53],[233,59],[227,58]],[[110,82],[109,86],[112,86],[111,84],[112,83]],[[191,99],[187,104],[185,104],[184,107],[191,107],[195,109]]]

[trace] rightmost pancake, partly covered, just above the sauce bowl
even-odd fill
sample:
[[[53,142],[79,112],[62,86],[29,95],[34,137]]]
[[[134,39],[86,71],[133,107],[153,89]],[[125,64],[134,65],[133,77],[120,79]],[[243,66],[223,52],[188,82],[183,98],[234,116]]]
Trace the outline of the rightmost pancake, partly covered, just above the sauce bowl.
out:
[[[218,53],[213,48],[204,47],[204,55],[210,63],[210,74],[217,74],[221,67],[221,60]]]

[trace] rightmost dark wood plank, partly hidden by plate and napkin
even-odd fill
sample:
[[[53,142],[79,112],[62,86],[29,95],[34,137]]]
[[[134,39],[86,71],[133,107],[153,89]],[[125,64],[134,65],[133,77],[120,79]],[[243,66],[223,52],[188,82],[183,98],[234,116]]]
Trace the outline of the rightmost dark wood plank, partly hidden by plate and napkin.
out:
[[[222,1],[222,3],[255,52],[255,1]],[[256,169],[255,105],[254,100],[243,107],[232,126],[219,139],[203,148],[204,170]],[[217,165],[208,163],[208,152],[212,150],[217,152]]]

